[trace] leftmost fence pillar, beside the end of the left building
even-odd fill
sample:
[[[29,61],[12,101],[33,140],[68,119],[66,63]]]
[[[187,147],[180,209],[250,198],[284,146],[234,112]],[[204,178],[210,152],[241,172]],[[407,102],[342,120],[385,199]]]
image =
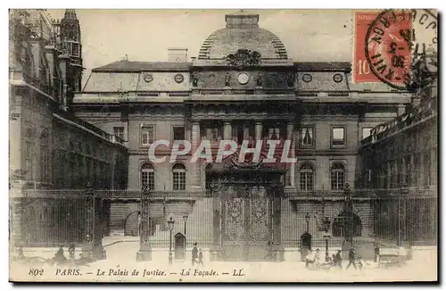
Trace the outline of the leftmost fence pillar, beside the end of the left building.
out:
[[[88,185],[84,198],[87,216],[87,228],[82,246],[82,256],[95,260],[106,258],[103,248],[103,200],[95,196],[95,191]]]

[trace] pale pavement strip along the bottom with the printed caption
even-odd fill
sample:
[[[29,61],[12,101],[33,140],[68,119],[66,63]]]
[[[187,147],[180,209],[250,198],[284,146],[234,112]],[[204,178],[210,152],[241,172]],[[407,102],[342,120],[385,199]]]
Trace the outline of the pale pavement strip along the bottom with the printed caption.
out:
[[[298,260],[285,262],[211,262],[209,253],[203,250],[203,265],[191,263],[191,252],[186,253],[186,260],[173,261],[169,264],[169,250],[154,248],[152,261],[136,262],[139,242],[131,239],[113,240],[105,245],[106,260],[90,262],[88,266],[54,267],[45,264],[23,265],[12,262],[12,279],[29,281],[129,281],[129,282],[351,282],[351,281],[432,281],[437,279],[436,247],[414,249],[413,259],[401,267],[379,268],[376,262],[368,262],[362,270],[308,270],[304,262]],[[46,258],[54,256],[53,250],[34,250],[25,256],[34,254]],[[79,249],[80,251],[80,249]],[[77,250],[77,253],[78,252]],[[43,270],[42,275],[29,274],[30,270]],[[67,269],[77,270],[80,275],[67,274]],[[62,274],[63,270],[65,273]]]

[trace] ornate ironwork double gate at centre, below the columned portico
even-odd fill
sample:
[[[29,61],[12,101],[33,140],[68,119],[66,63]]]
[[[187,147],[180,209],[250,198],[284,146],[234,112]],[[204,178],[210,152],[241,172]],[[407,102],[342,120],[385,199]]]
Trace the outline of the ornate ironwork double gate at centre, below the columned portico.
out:
[[[213,236],[224,261],[280,260],[281,170],[211,171]],[[218,240],[218,241],[216,241]]]

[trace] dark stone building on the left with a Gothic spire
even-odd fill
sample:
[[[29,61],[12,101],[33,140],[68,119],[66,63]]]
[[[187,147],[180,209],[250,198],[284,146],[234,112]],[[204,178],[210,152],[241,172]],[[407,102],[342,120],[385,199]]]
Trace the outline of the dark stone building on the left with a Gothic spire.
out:
[[[119,137],[70,111],[84,70],[74,10],[66,10],[62,21],[45,10],[11,10],[9,40],[12,241],[52,245],[81,240],[62,233],[62,217],[81,215],[76,208],[81,205],[69,209],[58,198],[73,189],[85,191],[88,183],[126,188],[127,149]]]

